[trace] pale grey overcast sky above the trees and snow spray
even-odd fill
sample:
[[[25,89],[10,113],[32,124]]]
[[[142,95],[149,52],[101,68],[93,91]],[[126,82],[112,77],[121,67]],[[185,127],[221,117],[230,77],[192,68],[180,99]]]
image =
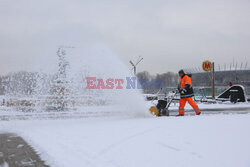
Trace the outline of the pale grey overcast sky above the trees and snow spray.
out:
[[[103,44],[151,73],[250,63],[250,0],[0,0],[0,74],[60,45]]]

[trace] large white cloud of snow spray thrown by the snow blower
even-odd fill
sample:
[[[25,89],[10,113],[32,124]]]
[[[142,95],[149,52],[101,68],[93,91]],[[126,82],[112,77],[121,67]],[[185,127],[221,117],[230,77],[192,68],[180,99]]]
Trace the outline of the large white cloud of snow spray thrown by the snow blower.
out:
[[[41,63],[42,61],[38,63],[40,70],[37,75],[35,97],[37,109],[40,111],[85,112],[86,107],[115,106],[116,115],[147,115],[141,90],[87,89],[86,78],[91,76],[103,79],[133,77],[128,67],[108,47],[64,46],[58,49],[57,55],[50,57],[53,58],[47,57],[45,64]]]

